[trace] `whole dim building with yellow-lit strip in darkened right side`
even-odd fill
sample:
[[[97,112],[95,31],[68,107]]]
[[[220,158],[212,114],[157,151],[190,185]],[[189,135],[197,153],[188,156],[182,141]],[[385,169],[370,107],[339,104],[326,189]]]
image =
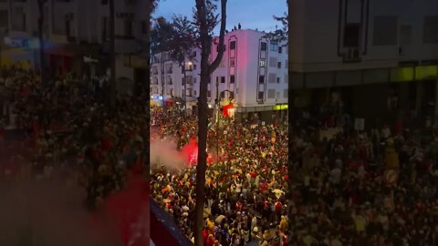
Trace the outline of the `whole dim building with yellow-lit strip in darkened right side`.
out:
[[[438,105],[437,1],[289,4],[289,85],[296,107],[340,97],[354,117],[436,115],[427,105]]]

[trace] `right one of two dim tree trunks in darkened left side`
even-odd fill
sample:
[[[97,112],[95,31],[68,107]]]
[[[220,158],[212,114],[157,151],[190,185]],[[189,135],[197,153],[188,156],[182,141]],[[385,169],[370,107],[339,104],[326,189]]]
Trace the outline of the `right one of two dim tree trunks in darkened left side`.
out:
[[[110,0],[110,107],[116,107],[116,40],[114,34],[114,0]]]

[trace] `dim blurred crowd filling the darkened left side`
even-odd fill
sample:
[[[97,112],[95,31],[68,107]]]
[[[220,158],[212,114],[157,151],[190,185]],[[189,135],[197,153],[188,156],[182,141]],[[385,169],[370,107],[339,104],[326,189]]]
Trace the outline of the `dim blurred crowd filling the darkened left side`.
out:
[[[78,183],[87,207],[97,210],[123,188],[127,170],[144,165],[149,107],[120,95],[110,108],[105,79],[68,74],[43,85],[40,78],[32,70],[2,70],[0,177]]]

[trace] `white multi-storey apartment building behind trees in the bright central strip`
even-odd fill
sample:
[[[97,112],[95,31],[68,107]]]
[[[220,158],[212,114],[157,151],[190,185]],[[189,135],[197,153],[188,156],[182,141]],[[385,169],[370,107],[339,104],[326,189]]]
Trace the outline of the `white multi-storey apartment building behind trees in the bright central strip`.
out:
[[[273,110],[287,107],[287,47],[268,40],[263,32],[238,29],[225,36],[225,52],[221,65],[208,84],[209,106],[214,108],[219,95],[221,103],[235,105],[235,112],[244,118],[254,113],[268,117]],[[186,97],[196,102],[199,96],[201,67],[200,50],[193,61],[186,61]],[[211,59],[217,55],[212,47]],[[162,62],[163,57],[163,62]],[[152,97],[184,97],[183,69],[168,56],[158,54],[151,61]],[[164,83],[162,83],[164,81]],[[217,85],[217,88],[216,88]],[[162,95],[162,86],[164,93]],[[217,90],[217,92],[216,92]],[[221,94],[222,93],[222,94]]]

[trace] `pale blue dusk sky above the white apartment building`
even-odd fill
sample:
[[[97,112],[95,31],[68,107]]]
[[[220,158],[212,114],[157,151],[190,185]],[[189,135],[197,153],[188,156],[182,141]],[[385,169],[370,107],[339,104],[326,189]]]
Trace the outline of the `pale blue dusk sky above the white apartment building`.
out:
[[[161,0],[154,16],[164,16],[168,19],[172,15],[192,16],[194,0]],[[220,6],[219,6],[220,9]],[[226,28],[231,30],[239,23],[243,29],[273,31],[281,28],[273,15],[283,15],[287,11],[286,0],[228,0]],[[219,26],[216,27],[217,34]]]

